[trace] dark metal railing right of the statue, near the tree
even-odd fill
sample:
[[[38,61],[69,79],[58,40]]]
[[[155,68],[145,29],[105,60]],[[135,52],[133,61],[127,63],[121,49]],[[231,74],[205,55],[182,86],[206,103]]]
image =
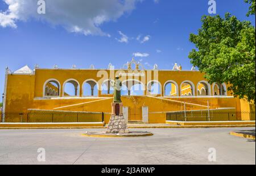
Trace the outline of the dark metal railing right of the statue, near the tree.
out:
[[[170,121],[239,121],[242,117],[255,120],[255,112],[245,111],[180,111],[166,113]]]

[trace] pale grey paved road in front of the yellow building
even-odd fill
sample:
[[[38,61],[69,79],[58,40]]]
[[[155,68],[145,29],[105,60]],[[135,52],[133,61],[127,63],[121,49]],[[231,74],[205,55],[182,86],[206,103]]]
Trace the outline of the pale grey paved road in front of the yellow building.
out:
[[[0,164],[254,164],[255,141],[230,131],[255,128],[131,129],[154,136],[93,138],[104,129],[2,129]],[[46,150],[39,162],[38,148]],[[216,162],[208,149],[216,149]]]

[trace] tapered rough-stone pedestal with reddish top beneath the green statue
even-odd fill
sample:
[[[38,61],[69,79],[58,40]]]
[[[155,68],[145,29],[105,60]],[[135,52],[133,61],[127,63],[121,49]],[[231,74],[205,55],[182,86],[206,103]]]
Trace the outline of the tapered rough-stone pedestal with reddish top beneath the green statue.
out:
[[[122,109],[122,103],[112,103],[112,115],[106,133],[129,133]]]

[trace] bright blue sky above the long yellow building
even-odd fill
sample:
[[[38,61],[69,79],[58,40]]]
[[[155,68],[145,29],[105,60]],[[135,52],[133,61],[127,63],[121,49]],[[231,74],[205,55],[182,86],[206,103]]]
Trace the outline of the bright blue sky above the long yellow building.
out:
[[[113,0],[113,3],[114,1],[118,0]],[[102,5],[101,8],[107,6],[110,15],[96,26],[96,31],[100,29],[100,32],[93,31],[93,28],[92,35],[70,30],[73,24],[80,23],[82,19],[87,18],[86,15],[91,15],[89,12],[75,15],[80,15],[81,20],[64,20],[63,23],[67,16],[65,11],[63,16],[48,16],[44,20],[38,20],[29,13],[16,14],[20,15],[14,19],[16,28],[11,25],[0,26],[0,92],[3,91],[6,66],[12,71],[24,65],[33,69],[35,64],[39,64],[40,68],[52,68],[55,64],[59,68],[71,68],[73,64],[77,68],[89,68],[93,64],[101,69],[107,68],[111,62],[115,68],[121,68],[131,60],[133,53],[138,52],[147,56],[136,58],[142,59],[145,68],[158,64],[159,69],[172,69],[173,64],[177,62],[183,69],[191,69],[188,53],[195,46],[188,40],[189,33],[196,33],[200,28],[202,15],[209,15],[208,0],[126,1],[134,4],[127,6],[127,9],[130,9],[123,10],[120,14],[115,12],[119,6]],[[72,2],[74,6],[79,7],[81,1]],[[255,16],[246,17],[249,5],[243,0],[216,0],[216,3],[217,14],[224,16],[225,12],[230,12],[240,20],[250,20],[255,26]],[[2,14],[8,7],[0,0]],[[31,9],[31,6],[27,7]],[[37,6],[35,10],[36,8]],[[62,6],[55,8],[55,11],[61,11]],[[71,13],[72,11],[69,11],[69,14]],[[55,21],[49,23],[51,18]],[[88,27],[88,24],[80,24],[84,30]],[[138,36],[141,36],[139,40]]]

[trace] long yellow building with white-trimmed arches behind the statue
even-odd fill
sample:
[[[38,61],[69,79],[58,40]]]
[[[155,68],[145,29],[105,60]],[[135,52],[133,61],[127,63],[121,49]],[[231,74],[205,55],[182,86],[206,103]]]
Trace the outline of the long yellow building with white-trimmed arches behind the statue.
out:
[[[118,70],[111,64],[108,69],[24,66],[16,72],[7,68],[2,121],[75,122],[86,119],[87,113],[91,121],[108,123],[115,76],[122,81],[127,121],[166,123],[173,115],[185,121],[255,120],[254,105],[234,98],[225,83],[210,85],[195,68],[182,70],[175,64],[172,70],[159,70],[157,65],[145,70],[134,59],[126,66]]]

